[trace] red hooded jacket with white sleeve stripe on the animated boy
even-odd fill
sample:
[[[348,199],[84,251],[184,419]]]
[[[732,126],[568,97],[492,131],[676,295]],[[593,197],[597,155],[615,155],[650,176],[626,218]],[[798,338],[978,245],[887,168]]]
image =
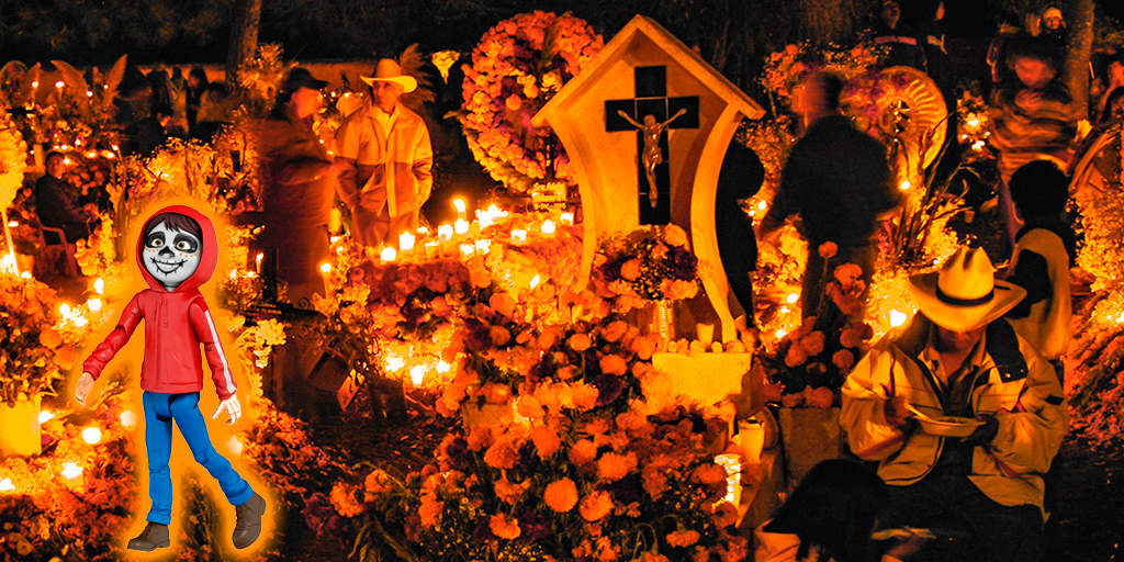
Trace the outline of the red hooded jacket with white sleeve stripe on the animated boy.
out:
[[[118,350],[133,336],[133,330],[145,319],[144,366],[140,369],[140,388],[152,392],[185,393],[199,392],[203,389],[202,361],[199,356],[199,344],[203,344],[207,363],[210,365],[211,379],[223,400],[234,396],[237,388],[230,373],[230,365],[223,353],[215,319],[198,287],[210,280],[218,263],[218,239],[215,226],[210,219],[199,211],[175,205],[155,212],[179,212],[196,219],[202,229],[202,257],[196,272],[169,292],[156,281],[144,266],[144,232],[152,217],[140,228],[137,238],[136,259],[140,274],[149,289],[140,291],[121,312],[117,327],[106,337],[82,363],[82,370],[101,377]]]

